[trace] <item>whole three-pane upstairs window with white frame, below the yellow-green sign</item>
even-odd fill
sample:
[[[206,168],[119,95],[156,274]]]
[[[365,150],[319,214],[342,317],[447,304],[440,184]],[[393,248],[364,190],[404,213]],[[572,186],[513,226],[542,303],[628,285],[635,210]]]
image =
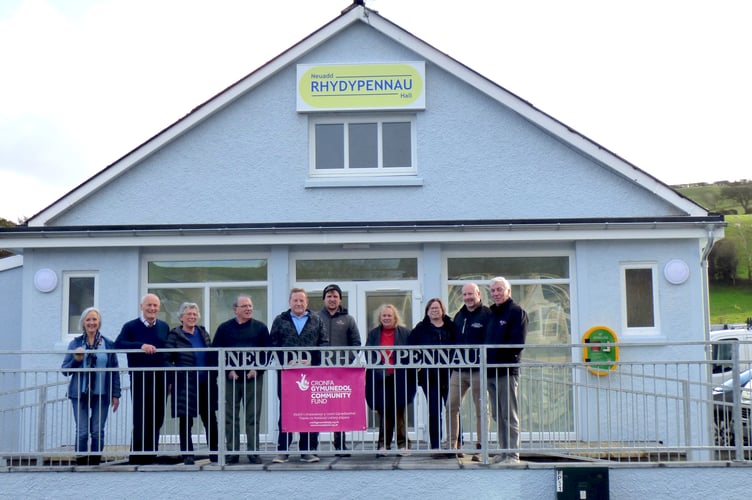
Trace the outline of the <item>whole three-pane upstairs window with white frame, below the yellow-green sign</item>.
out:
[[[311,118],[311,174],[414,175],[414,116]]]

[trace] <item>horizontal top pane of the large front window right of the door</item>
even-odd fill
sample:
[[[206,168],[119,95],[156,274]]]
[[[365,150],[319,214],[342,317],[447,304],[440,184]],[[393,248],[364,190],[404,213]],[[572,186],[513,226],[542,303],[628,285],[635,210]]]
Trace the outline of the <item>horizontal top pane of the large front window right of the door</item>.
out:
[[[569,278],[569,257],[477,257],[447,261],[450,280]],[[479,283],[480,284],[480,283]]]

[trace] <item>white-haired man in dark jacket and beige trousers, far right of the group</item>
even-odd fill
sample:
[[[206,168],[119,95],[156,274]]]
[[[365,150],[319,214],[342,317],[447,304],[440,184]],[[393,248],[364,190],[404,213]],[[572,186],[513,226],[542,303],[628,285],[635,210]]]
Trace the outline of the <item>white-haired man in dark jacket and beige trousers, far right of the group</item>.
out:
[[[488,391],[496,392],[498,402],[499,445],[504,451],[495,457],[495,462],[508,464],[520,461],[520,414],[518,391],[520,386],[519,366],[523,344],[527,337],[527,313],[512,300],[512,287],[505,278],[491,280],[491,320],[486,330],[486,344],[511,347],[489,347]],[[511,451],[510,451],[511,450]]]

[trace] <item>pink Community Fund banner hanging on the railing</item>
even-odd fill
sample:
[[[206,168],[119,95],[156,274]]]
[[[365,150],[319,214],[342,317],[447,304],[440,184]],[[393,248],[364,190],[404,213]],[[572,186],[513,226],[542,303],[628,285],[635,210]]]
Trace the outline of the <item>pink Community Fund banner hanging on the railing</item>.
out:
[[[365,368],[282,371],[284,432],[362,431],[366,428]]]

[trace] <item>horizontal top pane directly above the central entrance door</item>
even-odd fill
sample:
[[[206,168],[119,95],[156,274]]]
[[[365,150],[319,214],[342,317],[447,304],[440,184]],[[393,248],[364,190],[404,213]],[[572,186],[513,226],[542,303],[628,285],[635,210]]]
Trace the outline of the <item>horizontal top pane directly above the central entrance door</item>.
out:
[[[418,278],[418,259],[298,260],[298,281],[410,280]]]

